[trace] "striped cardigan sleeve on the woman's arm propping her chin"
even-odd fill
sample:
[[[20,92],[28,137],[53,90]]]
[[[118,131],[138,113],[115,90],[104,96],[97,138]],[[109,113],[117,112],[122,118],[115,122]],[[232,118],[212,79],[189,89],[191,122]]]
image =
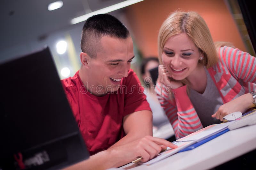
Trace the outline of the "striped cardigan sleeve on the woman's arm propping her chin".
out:
[[[171,93],[166,91],[163,84],[157,82],[157,98],[172,124],[176,139],[202,129],[203,125],[187,95],[186,86],[172,89]],[[170,100],[170,97],[175,99]]]

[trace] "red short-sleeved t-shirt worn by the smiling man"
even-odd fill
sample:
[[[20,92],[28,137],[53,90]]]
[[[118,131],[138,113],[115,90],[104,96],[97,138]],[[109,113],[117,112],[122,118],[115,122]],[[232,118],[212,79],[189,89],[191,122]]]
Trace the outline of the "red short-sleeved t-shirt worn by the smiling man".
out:
[[[129,70],[120,88],[105,96],[95,96],[87,91],[79,74],[61,80],[70,107],[90,154],[108,149],[125,136],[124,116],[150,110],[144,88],[137,75]]]

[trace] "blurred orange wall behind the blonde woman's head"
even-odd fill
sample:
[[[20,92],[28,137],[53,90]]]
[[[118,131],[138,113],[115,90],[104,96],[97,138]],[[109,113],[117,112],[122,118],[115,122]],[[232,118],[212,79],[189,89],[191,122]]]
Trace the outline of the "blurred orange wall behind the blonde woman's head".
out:
[[[229,41],[237,48],[247,50],[228,4],[223,0],[146,0],[127,7],[126,11],[143,56],[157,56],[158,30],[175,10],[198,12],[208,25],[213,41]]]

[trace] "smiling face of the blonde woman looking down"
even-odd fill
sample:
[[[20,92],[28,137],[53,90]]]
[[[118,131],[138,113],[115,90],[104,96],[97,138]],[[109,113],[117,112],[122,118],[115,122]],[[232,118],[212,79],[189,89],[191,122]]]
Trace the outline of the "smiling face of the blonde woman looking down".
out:
[[[181,33],[166,41],[161,57],[172,78],[182,80],[193,74],[199,58],[204,56],[188,35]]]

